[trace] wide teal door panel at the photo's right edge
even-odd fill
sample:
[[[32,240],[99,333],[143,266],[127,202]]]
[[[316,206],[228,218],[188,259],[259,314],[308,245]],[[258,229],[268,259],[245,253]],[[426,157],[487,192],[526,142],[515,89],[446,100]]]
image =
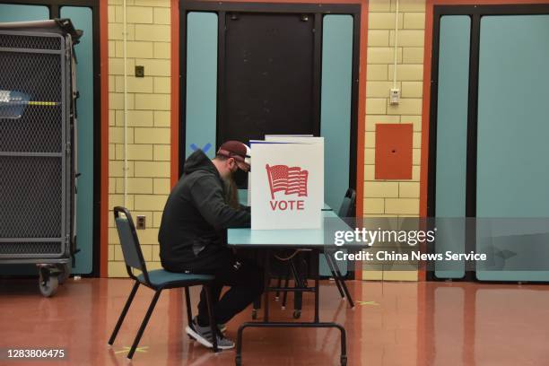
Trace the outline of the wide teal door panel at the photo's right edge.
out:
[[[479,218],[549,218],[548,39],[549,15],[481,19],[476,162]],[[524,229],[492,226],[495,238],[484,246],[477,242],[477,250],[490,253],[490,247],[507,248],[518,252],[518,257],[545,258],[545,268],[549,267],[549,243],[536,243],[538,236],[519,232]],[[518,234],[522,234],[520,243]],[[549,271],[528,271],[530,266],[525,265],[524,270],[513,271],[477,266],[476,276],[484,281],[549,281]]]

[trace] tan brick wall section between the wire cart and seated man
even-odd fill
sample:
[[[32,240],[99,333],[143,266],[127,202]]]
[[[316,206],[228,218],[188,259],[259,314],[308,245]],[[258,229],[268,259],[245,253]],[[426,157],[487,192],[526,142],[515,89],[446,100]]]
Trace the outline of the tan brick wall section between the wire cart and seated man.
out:
[[[127,202],[149,269],[159,268],[158,227],[170,193],[170,0],[127,0]],[[124,58],[122,0],[109,0],[109,207],[124,205]],[[135,65],[144,66],[136,78]],[[109,213],[109,276],[126,276]]]

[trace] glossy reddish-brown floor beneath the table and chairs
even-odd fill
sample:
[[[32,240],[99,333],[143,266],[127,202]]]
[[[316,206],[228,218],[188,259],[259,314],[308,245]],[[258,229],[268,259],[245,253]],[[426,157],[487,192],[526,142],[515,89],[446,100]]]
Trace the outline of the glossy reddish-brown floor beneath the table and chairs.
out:
[[[128,347],[153,292],[142,287],[115,345],[109,334],[126,301],[124,279],[69,280],[41,297],[36,280],[0,280],[0,347],[65,348],[65,362],[0,364],[126,365]],[[321,320],[347,331],[349,365],[549,365],[549,287],[494,283],[349,282],[348,309],[334,283],[321,285]],[[198,288],[193,289],[196,306]],[[303,319],[311,316],[305,295]],[[234,351],[213,354],[185,334],[182,292],[162,293],[135,353],[135,365],[232,365]],[[273,317],[292,318],[272,301]],[[292,295],[289,305],[292,304]],[[194,309],[196,311],[196,309]],[[245,310],[228,328],[248,321]],[[335,329],[257,329],[244,333],[244,365],[336,365]]]

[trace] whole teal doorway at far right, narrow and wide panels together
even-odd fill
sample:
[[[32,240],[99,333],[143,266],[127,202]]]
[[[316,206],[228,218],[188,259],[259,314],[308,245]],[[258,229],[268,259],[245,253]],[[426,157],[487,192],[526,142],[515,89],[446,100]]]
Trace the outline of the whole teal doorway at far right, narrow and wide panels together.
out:
[[[539,235],[527,235],[536,231],[496,222],[549,218],[548,37],[549,7],[547,14],[538,15],[440,17],[438,92],[433,104],[436,150],[431,150],[436,164],[430,166],[435,194],[430,205],[437,218],[475,216],[479,221],[476,240],[469,243],[465,222],[463,227],[437,225],[437,252],[464,252],[469,244],[489,256],[498,250],[514,251],[521,258],[536,258],[537,268],[540,263],[549,268],[549,244],[540,244]],[[476,44],[475,59],[469,52]],[[475,70],[469,70],[476,62],[477,79]],[[486,219],[493,222],[491,240],[485,240]],[[536,227],[535,222],[528,225]],[[505,262],[507,270],[482,262],[471,269],[482,281],[549,281],[549,271],[528,270],[524,259],[522,269],[510,270],[513,260]],[[437,264],[435,275],[462,278],[465,266]]]

